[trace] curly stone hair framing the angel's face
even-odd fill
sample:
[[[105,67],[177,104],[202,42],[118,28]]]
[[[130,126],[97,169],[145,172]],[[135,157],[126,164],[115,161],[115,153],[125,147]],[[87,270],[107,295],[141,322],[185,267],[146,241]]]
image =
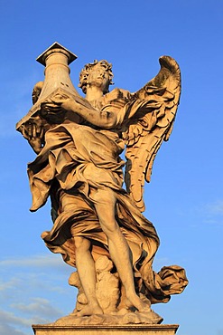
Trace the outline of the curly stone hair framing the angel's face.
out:
[[[108,86],[114,84],[112,82],[113,73],[112,73],[112,64],[107,62],[106,60],[97,61],[94,62],[88,62],[88,64],[85,65],[85,67],[82,69],[82,71],[79,73],[79,87],[81,90],[86,94],[87,92],[87,84],[88,84],[88,74],[91,70],[93,70],[94,66],[100,64],[105,68],[105,71],[108,72]],[[108,93],[108,89],[106,91],[103,91],[104,94]]]

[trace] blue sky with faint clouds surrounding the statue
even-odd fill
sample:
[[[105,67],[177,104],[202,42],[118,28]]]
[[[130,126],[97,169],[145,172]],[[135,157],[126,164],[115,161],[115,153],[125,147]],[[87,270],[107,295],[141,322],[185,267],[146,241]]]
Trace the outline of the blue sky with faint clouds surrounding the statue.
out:
[[[223,334],[222,14],[220,0],[1,1],[1,334],[32,334],[32,323],[55,321],[75,305],[72,268],[40,237],[51,228],[50,206],[29,212],[26,164],[35,154],[14,130],[43,79],[35,59],[55,41],[78,55],[70,65],[76,88],[94,59],[112,62],[114,87],[129,91],[153,78],[161,55],[179,62],[181,104],[144,199],[161,238],[154,270],[179,264],[190,284],[153,310],[180,324],[178,335]]]

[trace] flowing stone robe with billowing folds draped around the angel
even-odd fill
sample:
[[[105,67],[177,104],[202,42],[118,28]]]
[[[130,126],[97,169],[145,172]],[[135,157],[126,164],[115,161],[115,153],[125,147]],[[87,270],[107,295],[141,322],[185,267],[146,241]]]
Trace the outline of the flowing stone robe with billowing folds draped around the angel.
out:
[[[120,90],[117,93],[122,101],[129,94]],[[127,114],[133,115],[142,106],[146,108],[146,102],[135,101],[131,110],[124,103],[120,108],[120,100],[114,101],[114,92],[101,101],[102,111],[116,112],[116,129]],[[109,256],[107,236],[94,206],[94,192],[109,187],[116,195],[116,222],[133,254],[136,290],[144,290],[151,302],[167,302],[171,293],[182,291],[185,273],[177,266],[153,272],[159,238],[153,224],[122,187],[125,163],[119,155],[125,146],[116,129],[97,129],[66,120],[46,131],[44,148],[28,165],[33,194],[31,210],[43,206],[51,196],[54,223],[51,231],[42,233],[42,238],[53,253],[62,254],[71,266],[75,266],[72,236],[88,238],[95,259],[100,254]]]

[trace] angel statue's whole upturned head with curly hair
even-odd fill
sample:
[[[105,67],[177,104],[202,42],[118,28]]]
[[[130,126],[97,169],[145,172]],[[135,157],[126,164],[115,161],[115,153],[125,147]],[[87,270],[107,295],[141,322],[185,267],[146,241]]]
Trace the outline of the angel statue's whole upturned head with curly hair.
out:
[[[89,62],[79,73],[79,87],[86,94],[88,85],[101,85],[103,94],[106,94],[109,85],[113,84],[112,78],[113,73],[111,63],[105,60]],[[103,82],[100,84],[100,81],[102,80]]]

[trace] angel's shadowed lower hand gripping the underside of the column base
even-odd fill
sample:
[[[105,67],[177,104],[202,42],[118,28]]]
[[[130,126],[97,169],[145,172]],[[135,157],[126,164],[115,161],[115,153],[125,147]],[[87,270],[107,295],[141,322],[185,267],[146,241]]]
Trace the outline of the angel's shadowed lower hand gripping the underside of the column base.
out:
[[[35,153],[39,154],[44,144],[44,129],[41,119],[29,120],[23,125],[23,137],[27,139]]]

